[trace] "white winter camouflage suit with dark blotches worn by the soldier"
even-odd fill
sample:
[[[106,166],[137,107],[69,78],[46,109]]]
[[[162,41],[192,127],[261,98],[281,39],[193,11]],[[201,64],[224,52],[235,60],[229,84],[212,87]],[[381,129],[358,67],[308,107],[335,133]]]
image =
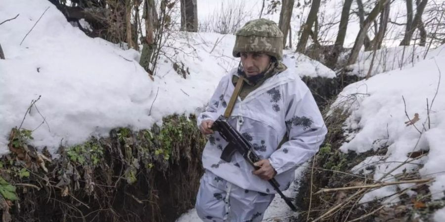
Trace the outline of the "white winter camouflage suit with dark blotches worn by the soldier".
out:
[[[234,91],[232,75],[223,76],[206,111],[197,118],[215,121],[223,114]],[[268,159],[276,170],[275,179],[285,190],[294,180],[294,170],[317,151],[327,129],[306,84],[291,69],[269,77],[244,100],[237,98],[229,124]],[[287,133],[288,141],[277,149]],[[256,222],[276,191],[252,174],[253,168],[236,152],[231,162],[220,156],[227,142],[218,132],[210,135],[202,154],[206,173],[201,179],[196,210],[203,221]],[[228,194],[228,195],[227,195]]]

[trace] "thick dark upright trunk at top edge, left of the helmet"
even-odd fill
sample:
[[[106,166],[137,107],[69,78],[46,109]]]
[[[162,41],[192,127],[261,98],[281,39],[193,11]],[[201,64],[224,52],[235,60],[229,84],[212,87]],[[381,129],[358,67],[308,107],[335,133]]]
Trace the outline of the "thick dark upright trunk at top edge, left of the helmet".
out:
[[[198,7],[196,0],[181,0],[181,30],[198,32]]]

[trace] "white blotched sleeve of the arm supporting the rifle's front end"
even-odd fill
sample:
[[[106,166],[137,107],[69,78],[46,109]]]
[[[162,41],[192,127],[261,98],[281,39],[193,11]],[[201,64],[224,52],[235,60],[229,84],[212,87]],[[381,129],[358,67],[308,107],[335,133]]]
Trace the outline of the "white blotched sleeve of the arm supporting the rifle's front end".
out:
[[[327,133],[323,117],[308,90],[298,101],[290,99],[285,116],[289,141],[269,157],[277,174],[295,169],[310,159],[319,149]]]

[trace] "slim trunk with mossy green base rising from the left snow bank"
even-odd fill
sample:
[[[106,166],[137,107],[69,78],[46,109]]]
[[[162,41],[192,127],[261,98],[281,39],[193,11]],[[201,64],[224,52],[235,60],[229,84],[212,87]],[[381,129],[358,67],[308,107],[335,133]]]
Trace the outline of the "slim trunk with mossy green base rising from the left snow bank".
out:
[[[145,38],[142,43],[142,52],[140,55],[139,64],[147,71],[149,74],[152,74],[149,69],[151,57],[153,55],[153,51],[156,48],[156,43],[154,41],[154,31],[156,26],[156,9],[154,0],[145,0],[144,1],[144,17],[145,17]]]

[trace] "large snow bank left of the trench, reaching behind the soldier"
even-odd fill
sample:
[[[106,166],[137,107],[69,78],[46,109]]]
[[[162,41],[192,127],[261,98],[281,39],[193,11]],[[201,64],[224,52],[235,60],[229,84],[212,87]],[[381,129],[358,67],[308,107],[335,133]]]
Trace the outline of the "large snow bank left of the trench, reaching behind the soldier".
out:
[[[139,52],[87,37],[46,0],[2,2],[0,21],[17,14],[0,26],[6,57],[0,60],[0,155],[8,152],[11,128],[20,126],[39,96],[38,110],[31,109],[22,128],[34,130],[31,145],[54,153],[61,142],[72,146],[112,128],[150,128],[163,116],[197,112],[239,64],[232,56],[234,36],[178,32],[164,46],[152,81],[138,65]],[[186,79],[173,69],[181,62],[190,73]],[[286,63],[297,64],[298,74],[328,72],[313,61]]]

